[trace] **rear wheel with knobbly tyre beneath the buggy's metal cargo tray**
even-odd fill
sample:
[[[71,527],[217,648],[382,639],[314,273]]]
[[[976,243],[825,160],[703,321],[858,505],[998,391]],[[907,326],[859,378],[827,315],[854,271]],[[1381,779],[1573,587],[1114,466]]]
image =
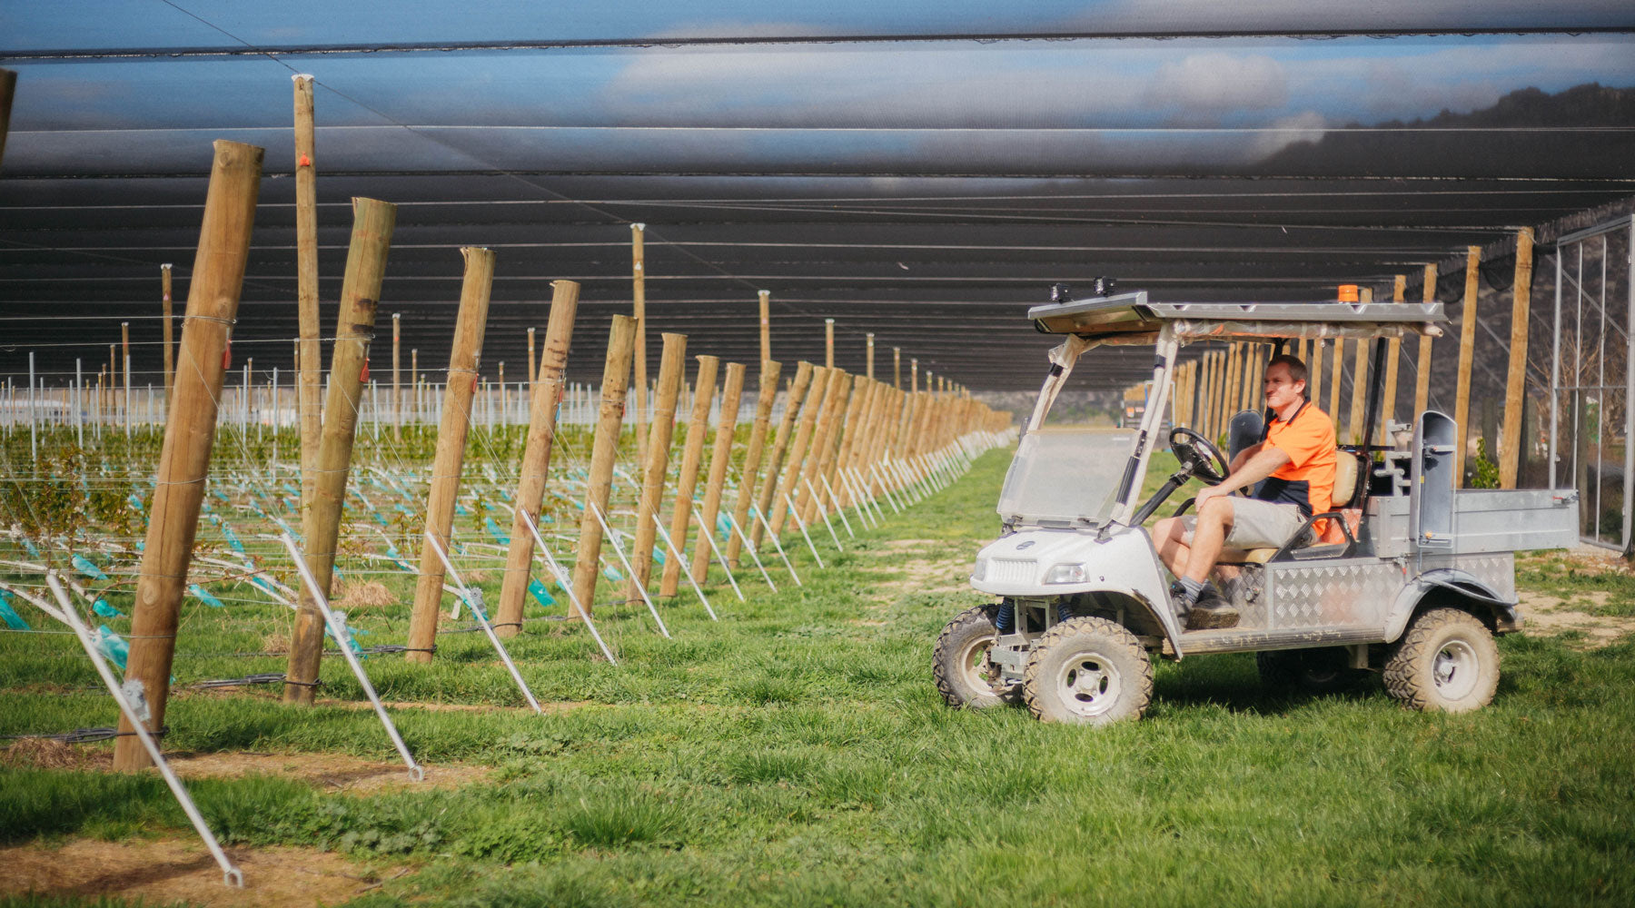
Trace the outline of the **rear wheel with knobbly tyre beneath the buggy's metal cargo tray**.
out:
[[[1499,686],[1499,647],[1488,625],[1460,609],[1414,616],[1385,657],[1385,692],[1403,705],[1468,712],[1493,701]]]

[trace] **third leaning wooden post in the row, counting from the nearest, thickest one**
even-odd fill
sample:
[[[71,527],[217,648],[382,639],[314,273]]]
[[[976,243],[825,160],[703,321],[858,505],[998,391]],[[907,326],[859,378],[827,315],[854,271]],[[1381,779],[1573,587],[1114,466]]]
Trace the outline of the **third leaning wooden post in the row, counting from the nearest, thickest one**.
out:
[[[420,541],[420,580],[414,590],[409,614],[409,661],[427,663],[437,652],[438,606],[443,603],[443,559],[450,549],[455,524],[455,500],[459,496],[459,474],[466,464],[466,436],[471,431],[471,395],[477,385],[477,359],[487,333],[489,296],[494,287],[494,253],[466,247],[466,278],[459,287],[459,314],[455,317],[455,345],[448,354],[448,379],[443,384],[443,418],[437,430],[437,454],[432,459],[432,488],[425,500],[425,532]],[[330,371],[334,374],[334,369]],[[334,377],[330,377],[334,381]],[[327,426],[325,426],[327,428]],[[325,433],[327,436],[329,433]],[[435,539],[435,545],[433,545]]]

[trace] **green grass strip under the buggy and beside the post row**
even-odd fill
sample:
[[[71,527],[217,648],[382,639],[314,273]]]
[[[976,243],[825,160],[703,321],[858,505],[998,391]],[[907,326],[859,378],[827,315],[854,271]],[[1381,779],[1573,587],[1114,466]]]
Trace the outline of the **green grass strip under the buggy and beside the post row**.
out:
[[[378,875],[353,901],[370,906],[1635,903],[1632,637],[1507,637],[1498,697],[1468,715],[1406,712],[1378,683],[1265,691],[1248,657],[1159,665],[1148,717],[1105,730],[943,707],[930,645],[981,601],[963,573],[997,531],[1004,465],[989,452],[888,511],[827,570],[798,560],[804,588],[749,583],[744,604],[716,590],[719,624],[679,599],[664,640],[634,609],[608,612],[620,666],[592,660],[582,630],[535,622],[513,653],[564,704],[546,717],[515,709],[479,635],[443,637],[430,668],[371,658],[387,701],[505,707],[394,710],[430,776],[459,766],[466,784],[360,794],[267,772],[190,789],[235,854],[337,851]],[[1612,614],[1635,601],[1622,573],[1524,568],[1529,588],[1604,593]],[[260,645],[253,614],[232,614],[183,629],[178,684],[283,668],[211,655]],[[389,640],[405,614],[356,622]],[[0,635],[0,733],[113,723],[70,645]],[[324,678],[325,696],[361,697],[338,658]],[[167,722],[175,751],[392,759],[348,705],[195,692]],[[0,768],[0,844],[186,835],[157,777]]]

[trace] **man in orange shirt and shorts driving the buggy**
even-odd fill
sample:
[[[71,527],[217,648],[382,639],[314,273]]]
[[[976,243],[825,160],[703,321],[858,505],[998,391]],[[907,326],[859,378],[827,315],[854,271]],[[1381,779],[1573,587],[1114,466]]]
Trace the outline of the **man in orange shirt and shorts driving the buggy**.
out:
[[[1334,490],[1334,423],[1306,400],[1306,364],[1295,356],[1274,356],[1265,364],[1265,407],[1274,420],[1259,444],[1233,457],[1218,485],[1198,492],[1194,513],[1164,518],[1153,527],[1153,544],[1176,583],[1171,593],[1189,629],[1233,627],[1238,611],[1233,590],[1238,568],[1216,567],[1241,560],[1248,549],[1279,549],[1311,516],[1329,511]],[[1265,480],[1252,498],[1231,496]],[[1331,521],[1318,521],[1318,524]],[[1300,545],[1324,536],[1313,526]],[[1210,570],[1221,578],[1221,594],[1210,585]]]

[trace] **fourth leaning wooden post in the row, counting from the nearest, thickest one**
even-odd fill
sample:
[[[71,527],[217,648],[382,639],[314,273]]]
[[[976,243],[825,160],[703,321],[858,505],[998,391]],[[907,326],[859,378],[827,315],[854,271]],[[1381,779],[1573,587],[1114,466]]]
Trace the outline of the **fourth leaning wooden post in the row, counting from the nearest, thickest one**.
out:
[[[533,532],[528,521],[540,526],[540,505],[551,472],[551,449],[556,444],[556,412],[562,398],[562,374],[567,348],[574,340],[574,317],[579,314],[579,284],[551,283],[551,320],[544,325],[544,356],[531,374],[535,390],[528,395],[528,441],[522,451],[517,475],[517,501],[512,511],[510,544],[505,550],[505,578],[500,581],[500,604],[494,612],[494,632],[515,637],[522,630],[523,603],[533,567]],[[533,340],[533,328],[528,328]],[[533,361],[530,351],[528,361]]]

